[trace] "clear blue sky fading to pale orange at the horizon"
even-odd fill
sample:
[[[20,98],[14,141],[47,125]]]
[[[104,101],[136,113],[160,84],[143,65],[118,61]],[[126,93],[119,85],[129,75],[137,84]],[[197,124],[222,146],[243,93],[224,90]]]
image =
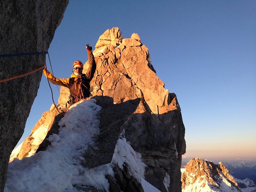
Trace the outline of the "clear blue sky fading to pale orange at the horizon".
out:
[[[113,27],[124,38],[139,34],[157,76],[176,93],[184,156],[256,159],[256,1],[70,0],[48,50],[54,75],[68,78],[75,60],[87,61],[85,45],[94,49]],[[21,141],[51,104],[43,76]]]

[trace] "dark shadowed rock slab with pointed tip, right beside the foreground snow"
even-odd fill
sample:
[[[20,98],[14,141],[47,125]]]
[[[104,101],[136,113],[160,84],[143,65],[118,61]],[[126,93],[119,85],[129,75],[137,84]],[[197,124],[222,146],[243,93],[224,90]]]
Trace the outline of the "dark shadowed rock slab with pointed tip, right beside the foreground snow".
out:
[[[86,166],[97,167],[111,162],[116,142],[140,103],[140,98],[129,100],[120,104],[113,104],[113,99],[106,104],[108,96],[92,97],[97,100],[97,105],[103,109],[100,114],[100,135],[98,136],[96,148],[91,148],[84,155]]]

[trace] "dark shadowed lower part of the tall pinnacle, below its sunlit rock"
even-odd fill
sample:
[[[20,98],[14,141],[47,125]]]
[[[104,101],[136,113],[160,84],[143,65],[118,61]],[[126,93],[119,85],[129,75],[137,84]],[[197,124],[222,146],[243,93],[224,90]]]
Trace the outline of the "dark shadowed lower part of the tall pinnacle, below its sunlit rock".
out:
[[[164,120],[165,116],[168,121]],[[180,166],[181,155],[185,153],[184,135],[180,108],[155,115],[150,113],[146,105],[145,112],[135,113],[125,127],[126,139],[135,151],[141,153],[147,165],[145,180],[160,191],[181,192]],[[168,176],[170,183],[166,190],[163,181]]]

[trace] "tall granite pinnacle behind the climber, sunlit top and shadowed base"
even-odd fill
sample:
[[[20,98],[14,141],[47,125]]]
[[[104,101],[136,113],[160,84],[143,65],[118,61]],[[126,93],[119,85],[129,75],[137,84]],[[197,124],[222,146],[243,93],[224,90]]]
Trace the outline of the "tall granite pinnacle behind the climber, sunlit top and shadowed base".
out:
[[[119,28],[105,31],[95,48],[92,95],[112,97],[115,103],[141,98],[124,127],[125,138],[142,154],[145,180],[160,191],[181,191],[185,127],[176,95],[156,76],[148,48],[136,33],[123,38]]]

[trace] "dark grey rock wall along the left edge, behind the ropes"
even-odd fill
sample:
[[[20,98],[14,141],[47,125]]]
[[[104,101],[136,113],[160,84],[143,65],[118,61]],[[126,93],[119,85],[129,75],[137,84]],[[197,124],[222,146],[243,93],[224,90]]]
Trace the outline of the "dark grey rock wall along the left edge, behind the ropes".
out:
[[[1,1],[0,54],[47,52],[68,0]],[[0,57],[0,79],[44,66],[45,55]],[[9,67],[15,66],[12,70]],[[0,83],[0,191],[4,189],[10,154],[16,146],[36,97],[42,70]]]

